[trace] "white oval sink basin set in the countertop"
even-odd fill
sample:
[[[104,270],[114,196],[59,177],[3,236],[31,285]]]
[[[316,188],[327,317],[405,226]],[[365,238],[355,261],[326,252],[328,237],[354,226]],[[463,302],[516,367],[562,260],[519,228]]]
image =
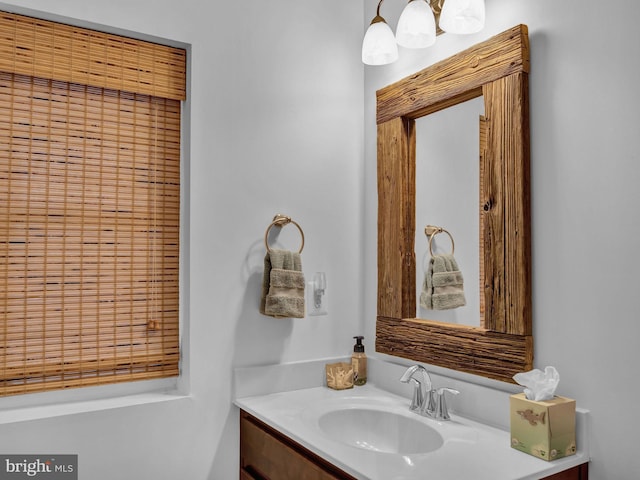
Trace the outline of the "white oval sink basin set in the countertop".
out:
[[[322,432],[342,443],[382,453],[429,453],[444,443],[442,435],[419,420],[367,408],[329,411],[318,419]]]

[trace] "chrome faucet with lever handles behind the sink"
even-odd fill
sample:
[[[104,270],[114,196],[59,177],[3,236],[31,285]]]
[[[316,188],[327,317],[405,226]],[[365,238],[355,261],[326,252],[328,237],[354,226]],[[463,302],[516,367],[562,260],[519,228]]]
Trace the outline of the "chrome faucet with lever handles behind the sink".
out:
[[[422,381],[414,378],[416,373],[420,373]],[[402,383],[413,385],[413,395],[411,397],[411,405],[409,410],[416,412],[418,415],[435,418],[436,420],[449,420],[449,410],[445,393],[457,395],[460,393],[453,388],[433,389],[429,372],[422,365],[413,365],[409,367],[400,378]]]

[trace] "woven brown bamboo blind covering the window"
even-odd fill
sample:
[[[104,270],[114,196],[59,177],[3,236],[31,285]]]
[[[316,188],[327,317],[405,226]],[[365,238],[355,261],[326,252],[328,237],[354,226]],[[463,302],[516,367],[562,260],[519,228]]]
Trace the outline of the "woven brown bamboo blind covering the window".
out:
[[[178,375],[185,58],[0,12],[0,395]]]

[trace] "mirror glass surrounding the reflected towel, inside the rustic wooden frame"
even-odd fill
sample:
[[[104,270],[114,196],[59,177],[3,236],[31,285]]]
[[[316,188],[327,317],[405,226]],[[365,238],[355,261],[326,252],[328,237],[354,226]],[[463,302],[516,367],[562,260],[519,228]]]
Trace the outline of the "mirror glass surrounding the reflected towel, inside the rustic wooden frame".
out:
[[[482,97],[416,119],[416,311],[417,317],[480,326],[479,198]],[[461,141],[464,139],[464,141]],[[420,306],[431,253],[426,225],[439,225],[454,239],[454,258],[464,279],[466,304],[448,310]],[[434,254],[452,251],[446,234],[431,242]]]

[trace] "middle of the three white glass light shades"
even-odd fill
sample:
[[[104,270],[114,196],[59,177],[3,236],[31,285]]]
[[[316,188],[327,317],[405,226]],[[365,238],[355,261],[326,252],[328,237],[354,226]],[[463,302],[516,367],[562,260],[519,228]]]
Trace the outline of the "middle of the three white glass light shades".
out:
[[[435,43],[436,21],[425,0],[412,0],[404,7],[396,28],[396,41],[406,48],[425,48]]]

